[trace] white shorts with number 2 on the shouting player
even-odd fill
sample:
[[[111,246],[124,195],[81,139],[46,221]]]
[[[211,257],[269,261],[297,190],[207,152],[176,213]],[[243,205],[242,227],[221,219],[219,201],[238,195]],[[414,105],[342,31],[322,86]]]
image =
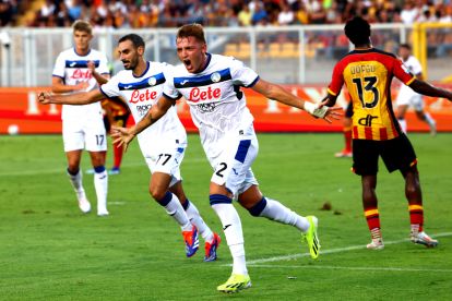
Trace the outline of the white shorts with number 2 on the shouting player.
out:
[[[212,146],[204,146],[209,149]],[[251,165],[258,157],[259,143],[252,124],[245,130],[229,133],[217,142],[222,152],[215,158],[207,154],[209,161],[214,169],[211,181],[225,185],[234,197],[247,191],[251,185],[258,185],[258,180],[251,170]]]

